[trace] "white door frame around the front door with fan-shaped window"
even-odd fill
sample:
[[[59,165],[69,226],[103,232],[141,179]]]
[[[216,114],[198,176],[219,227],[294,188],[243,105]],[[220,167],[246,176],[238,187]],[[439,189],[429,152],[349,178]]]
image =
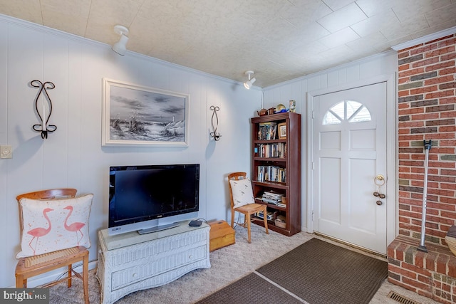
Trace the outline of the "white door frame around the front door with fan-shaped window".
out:
[[[331,88],[313,90],[307,93],[307,232],[314,233],[314,187],[313,187],[313,161],[314,161],[314,98],[318,95],[336,93],[341,90],[359,88],[375,83],[386,83],[386,174],[387,174],[387,192],[388,203],[386,206],[386,244],[391,243],[398,234],[398,154],[396,146],[398,142],[398,120],[397,120],[397,94],[396,94],[396,75],[378,75],[373,78],[358,80],[353,83],[346,83]]]

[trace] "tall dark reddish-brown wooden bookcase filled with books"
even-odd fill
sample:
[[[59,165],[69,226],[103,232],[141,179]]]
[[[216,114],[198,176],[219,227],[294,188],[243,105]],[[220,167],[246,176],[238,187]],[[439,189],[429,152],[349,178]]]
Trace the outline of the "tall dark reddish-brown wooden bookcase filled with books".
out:
[[[301,231],[301,115],[283,112],[253,117],[251,121],[255,201],[266,204],[272,214],[269,229],[292,236]],[[267,199],[269,196],[273,199]],[[278,196],[284,201],[277,200]],[[277,216],[285,223],[276,223]],[[259,217],[255,216],[253,222],[264,226]]]

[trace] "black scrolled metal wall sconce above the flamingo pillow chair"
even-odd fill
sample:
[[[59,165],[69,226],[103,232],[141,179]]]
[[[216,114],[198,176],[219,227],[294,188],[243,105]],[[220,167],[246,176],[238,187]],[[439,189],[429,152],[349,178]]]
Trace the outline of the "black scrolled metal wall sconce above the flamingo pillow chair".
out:
[[[57,130],[56,125],[48,125],[49,118],[51,117],[52,113],[52,102],[51,98],[49,97],[48,90],[52,90],[53,88],[56,88],[56,85],[51,83],[50,81],[46,81],[46,83],[41,83],[40,80],[32,80],[30,82],[30,85],[34,88],[39,88],[40,90],[38,91],[38,94],[36,94],[35,98],[35,109],[36,112],[38,113],[38,116],[41,119],[41,125],[33,125],[33,130],[36,132],[41,132],[41,138],[45,139],[48,138],[48,132],[54,132]],[[40,111],[38,110],[38,98],[41,95],[41,92],[44,92],[44,98],[43,98],[43,110]],[[48,116],[46,117],[46,103],[48,104]]]

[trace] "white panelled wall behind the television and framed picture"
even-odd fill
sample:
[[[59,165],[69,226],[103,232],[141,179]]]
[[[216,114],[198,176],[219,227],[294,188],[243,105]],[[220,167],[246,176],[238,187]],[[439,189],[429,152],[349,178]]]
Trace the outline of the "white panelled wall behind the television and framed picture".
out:
[[[190,146],[101,147],[103,77],[190,94]],[[34,79],[56,85],[48,93],[50,123],[58,129],[47,140],[32,130],[39,123]],[[258,88],[135,53],[118,56],[110,46],[6,16],[0,16],[0,80],[0,145],[13,147],[12,159],[0,159],[1,287],[15,282],[21,193],[54,187],[93,193],[90,261],[96,260],[97,231],[108,221],[110,165],[199,163],[199,217],[229,219],[226,178],[250,171],[249,118],[261,108]],[[211,105],[220,108],[219,142],[209,137]]]

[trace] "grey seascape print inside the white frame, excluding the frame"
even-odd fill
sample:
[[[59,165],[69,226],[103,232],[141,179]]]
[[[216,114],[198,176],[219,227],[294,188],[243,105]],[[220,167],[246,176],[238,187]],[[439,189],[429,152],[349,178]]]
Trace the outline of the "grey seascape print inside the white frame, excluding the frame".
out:
[[[110,142],[185,144],[187,99],[178,93],[110,85]]]

